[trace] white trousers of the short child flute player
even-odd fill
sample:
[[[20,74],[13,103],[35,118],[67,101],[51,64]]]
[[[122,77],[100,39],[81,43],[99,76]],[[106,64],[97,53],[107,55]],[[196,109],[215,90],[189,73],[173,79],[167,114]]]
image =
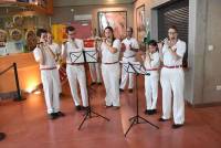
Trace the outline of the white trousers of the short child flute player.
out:
[[[145,96],[147,109],[157,108],[159,74],[145,75]]]

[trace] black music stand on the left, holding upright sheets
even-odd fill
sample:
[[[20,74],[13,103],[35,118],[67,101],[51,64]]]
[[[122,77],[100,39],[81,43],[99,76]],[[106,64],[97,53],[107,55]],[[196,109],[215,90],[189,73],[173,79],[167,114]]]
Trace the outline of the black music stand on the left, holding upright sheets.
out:
[[[97,51],[96,50],[87,50],[87,51],[83,50],[83,51],[71,52],[70,56],[71,56],[72,63],[84,63],[84,67],[86,66],[86,63],[96,63],[97,62]],[[86,71],[85,71],[85,73],[87,75]],[[87,78],[85,78],[85,80],[86,80],[86,91],[87,91],[87,94],[88,94],[88,107],[86,109],[86,113],[84,115],[82,123],[78,126],[78,130],[83,126],[84,121],[88,118],[102,117],[102,118],[106,119],[107,121],[109,121],[109,119],[107,117],[104,117],[104,116],[99,115],[98,113],[96,113],[92,109],[91,102],[90,102],[90,92],[88,92]],[[95,114],[96,116],[92,116],[92,114]]]

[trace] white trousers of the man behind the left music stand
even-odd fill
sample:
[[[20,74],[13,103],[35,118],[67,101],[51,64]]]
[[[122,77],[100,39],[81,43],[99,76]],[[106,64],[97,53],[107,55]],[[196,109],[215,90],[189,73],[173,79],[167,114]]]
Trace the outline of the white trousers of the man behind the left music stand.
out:
[[[85,70],[83,65],[70,65],[66,66],[66,74],[71,87],[72,97],[74,101],[75,106],[81,104],[78,94],[77,94],[77,84],[80,84],[81,96],[82,96],[82,104],[84,107],[88,106],[88,95],[86,89],[86,76]]]

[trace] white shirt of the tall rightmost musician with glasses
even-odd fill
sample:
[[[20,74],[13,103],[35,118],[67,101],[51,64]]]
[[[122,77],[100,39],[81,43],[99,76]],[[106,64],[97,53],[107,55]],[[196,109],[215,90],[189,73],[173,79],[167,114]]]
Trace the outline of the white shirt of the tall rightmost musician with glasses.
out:
[[[167,44],[165,44],[162,46],[162,56],[164,56],[164,65],[166,66],[176,66],[176,65],[182,65],[182,57],[185,55],[186,52],[186,42],[178,40],[177,43],[172,46],[177,47],[176,53],[181,56],[181,59],[176,60],[175,55],[172,55],[172,53],[169,51],[168,49],[169,46]]]

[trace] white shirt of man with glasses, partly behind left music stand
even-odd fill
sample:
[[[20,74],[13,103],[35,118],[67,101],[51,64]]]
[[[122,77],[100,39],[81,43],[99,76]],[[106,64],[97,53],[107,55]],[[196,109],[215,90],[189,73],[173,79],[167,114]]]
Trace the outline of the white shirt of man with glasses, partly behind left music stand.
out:
[[[77,47],[74,45],[73,42],[75,42]],[[84,47],[84,43],[83,43],[83,40],[81,39],[75,39],[74,41],[67,41],[65,45],[62,45],[62,51],[66,50],[66,63],[72,63],[71,55],[70,55],[72,52],[83,51],[83,47]]]

